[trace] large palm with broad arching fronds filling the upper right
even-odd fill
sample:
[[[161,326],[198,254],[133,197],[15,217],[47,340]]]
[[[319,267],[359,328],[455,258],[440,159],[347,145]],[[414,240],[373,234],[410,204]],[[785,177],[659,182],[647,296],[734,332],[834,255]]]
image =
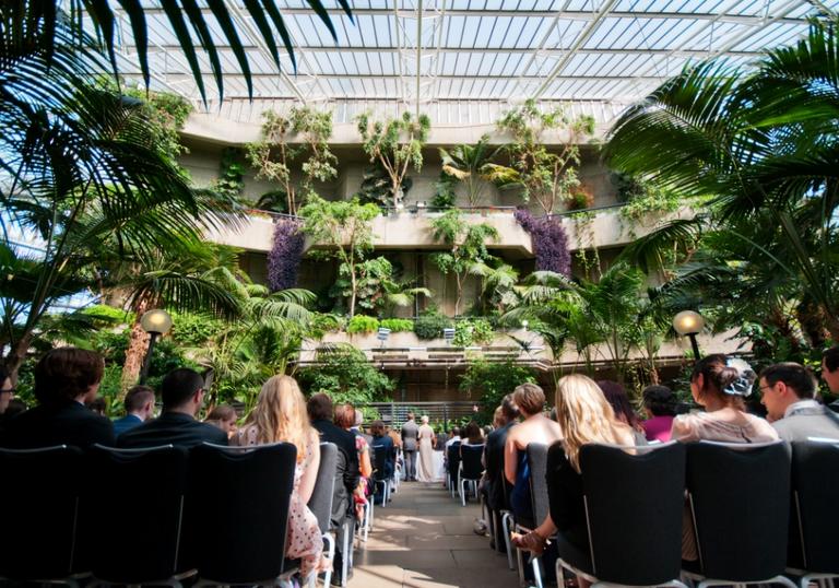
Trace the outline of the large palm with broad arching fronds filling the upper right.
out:
[[[710,198],[707,214],[648,236],[636,258],[672,260],[660,251],[676,248],[677,261],[693,260],[709,233],[723,250],[740,240],[748,255],[738,271],[784,280],[781,298],[805,310],[802,324],[839,340],[836,31],[835,14],[813,21],[806,38],[767,51],[752,73],[720,61],[686,69],[624,114],[606,156],[683,199]]]

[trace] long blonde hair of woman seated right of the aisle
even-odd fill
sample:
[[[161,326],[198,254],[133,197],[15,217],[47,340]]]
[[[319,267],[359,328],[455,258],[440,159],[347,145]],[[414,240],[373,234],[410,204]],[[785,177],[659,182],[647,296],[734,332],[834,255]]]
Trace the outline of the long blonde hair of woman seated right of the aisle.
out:
[[[594,380],[581,374],[565,376],[557,383],[556,414],[565,436],[565,452],[577,471],[580,447],[587,443],[631,443],[630,428],[615,418],[612,404]]]

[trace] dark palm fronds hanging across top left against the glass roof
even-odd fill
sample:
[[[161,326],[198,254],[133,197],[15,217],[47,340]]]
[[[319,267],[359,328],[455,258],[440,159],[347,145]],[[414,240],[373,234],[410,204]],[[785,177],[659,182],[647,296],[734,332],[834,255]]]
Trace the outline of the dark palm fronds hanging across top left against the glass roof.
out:
[[[329,17],[323,3],[320,0],[306,0],[312,11],[326,25],[334,40],[338,40],[335,28]],[[339,0],[341,8],[352,20],[352,11],[346,0]],[[66,12],[63,9],[67,8]],[[37,50],[43,52],[45,61],[50,63],[56,56],[62,52],[62,45],[67,40],[72,42],[68,47],[71,50],[86,50],[88,42],[81,33],[81,23],[92,26],[95,31],[97,45],[103,52],[110,58],[110,64],[116,73],[118,71],[117,50],[122,43],[122,35],[117,35],[121,31],[119,19],[123,16],[128,20],[131,30],[133,45],[135,47],[135,58],[140,64],[142,78],[145,87],[149,87],[151,81],[151,69],[149,67],[149,21],[157,22],[163,19],[166,27],[175,34],[176,43],[184,51],[189,71],[196,81],[198,91],[202,98],[206,98],[204,80],[201,69],[201,59],[197,47],[203,50],[206,60],[210,62],[213,81],[218,91],[218,98],[224,97],[224,69],[221,59],[222,45],[233,51],[233,56],[240,69],[240,73],[247,86],[248,96],[253,95],[252,78],[250,71],[250,59],[246,50],[246,44],[243,44],[239,28],[236,21],[247,14],[247,19],[256,25],[257,35],[261,43],[264,43],[268,54],[271,57],[277,71],[281,69],[280,52],[277,50],[277,40],[281,39],[285,50],[292,60],[293,68],[296,69],[296,58],[294,56],[294,46],[288,35],[280,9],[272,2],[261,2],[258,0],[246,0],[244,7],[235,10],[224,2],[210,2],[209,11],[212,19],[208,17],[198,4],[186,3],[184,8],[176,3],[164,2],[161,8],[162,14],[152,14],[158,9],[146,7],[140,2],[120,2],[121,14],[117,14],[115,7],[108,2],[98,2],[95,0],[80,0],[69,3],[59,3],[51,0],[11,0],[2,4],[2,22],[7,39],[14,39],[14,43],[3,43],[5,51],[17,54],[21,49],[37,46]],[[71,25],[78,28],[70,37],[64,37],[61,33],[62,27]],[[212,31],[211,31],[212,28]],[[279,39],[277,39],[279,34]],[[8,57],[4,56],[4,57]],[[5,61],[0,59],[0,61]],[[1,66],[0,66],[1,67]],[[19,71],[21,75],[32,77],[37,82],[38,74],[29,71]],[[55,89],[58,90],[58,89]],[[56,92],[55,96],[60,96]]]

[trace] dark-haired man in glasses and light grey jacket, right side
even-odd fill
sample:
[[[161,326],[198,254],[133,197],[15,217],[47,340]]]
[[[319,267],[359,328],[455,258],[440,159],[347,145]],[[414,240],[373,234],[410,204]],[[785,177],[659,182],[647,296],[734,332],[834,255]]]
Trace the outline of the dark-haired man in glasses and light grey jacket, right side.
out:
[[[782,439],[839,439],[839,416],[813,399],[816,379],[810,369],[792,362],[770,365],[759,384],[760,402]]]

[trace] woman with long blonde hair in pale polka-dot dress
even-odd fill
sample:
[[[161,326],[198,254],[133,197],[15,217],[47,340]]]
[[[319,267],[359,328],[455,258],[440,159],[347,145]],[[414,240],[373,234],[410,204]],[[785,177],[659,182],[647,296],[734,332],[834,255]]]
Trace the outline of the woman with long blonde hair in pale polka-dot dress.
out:
[[[323,557],[318,519],[306,504],[315,490],[320,467],[320,438],[309,424],[306,399],[291,376],[273,376],[262,385],[257,405],[231,440],[232,445],[263,445],[285,442],[297,447],[294,492],[288,507],[285,557],[300,560],[300,574],[324,572],[331,562]]]

